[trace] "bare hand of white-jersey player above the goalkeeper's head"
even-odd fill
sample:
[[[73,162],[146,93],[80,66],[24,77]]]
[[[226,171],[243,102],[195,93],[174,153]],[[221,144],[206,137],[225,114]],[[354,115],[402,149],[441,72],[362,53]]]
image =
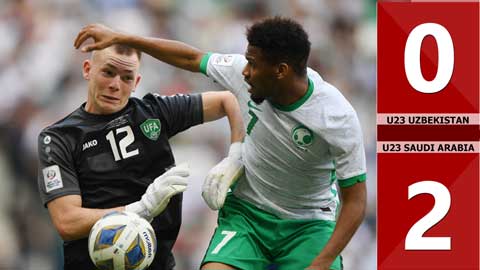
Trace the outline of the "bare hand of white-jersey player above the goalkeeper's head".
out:
[[[102,24],[89,24],[80,30],[73,46],[78,49],[87,39],[92,38],[93,44],[82,47],[82,52],[90,52],[93,50],[101,50],[118,42],[121,36],[120,32]]]

